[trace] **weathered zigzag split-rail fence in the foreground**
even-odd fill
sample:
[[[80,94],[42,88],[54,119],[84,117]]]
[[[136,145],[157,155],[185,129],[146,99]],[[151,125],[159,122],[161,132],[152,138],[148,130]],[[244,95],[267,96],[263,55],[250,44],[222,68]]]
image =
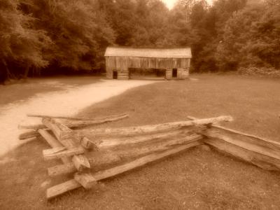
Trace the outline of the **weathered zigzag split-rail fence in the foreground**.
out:
[[[62,164],[48,168],[48,175],[73,175],[73,179],[48,188],[48,200],[76,188],[93,188],[97,181],[202,144],[209,144],[218,151],[262,169],[280,171],[280,143],[216,124],[232,121],[230,116],[207,119],[189,117],[190,120],[174,123],[80,130],[71,130],[67,126],[77,125],[75,121],[65,125],[55,120],[61,117],[31,116],[43,118],[42,125],[36,127],[36,133],[51,146],[43,151],[43,158],[62,160]],[[110,122],[125,117],[127,114],[109,116],[99,120],[99,123],[94,121],[101,124],[104,119]]]

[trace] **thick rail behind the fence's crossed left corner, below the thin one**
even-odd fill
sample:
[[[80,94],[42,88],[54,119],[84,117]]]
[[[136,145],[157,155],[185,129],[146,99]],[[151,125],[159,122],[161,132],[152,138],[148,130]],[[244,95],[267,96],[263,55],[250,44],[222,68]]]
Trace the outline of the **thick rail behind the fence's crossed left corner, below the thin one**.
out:
[[[97,119],[92,119],[92,120],[79,120],[79,121],[68,121],[65,122],[64,125],[66,125],[69,128],[78,128],[78,127],[86,127],[90,125],[99,125],[102,123],[109,123],[117,120],[122,120],[124,118],[128,118],[127,113],[123,113],[120,115],[116,116],[107,116],[105,118],[97,118]],[[46,128],[45,125],[43,124],[36,124],[36,125],[18,125],[19,129],[33,129],[33,130],[38,130],[38,129],[44,129]]]

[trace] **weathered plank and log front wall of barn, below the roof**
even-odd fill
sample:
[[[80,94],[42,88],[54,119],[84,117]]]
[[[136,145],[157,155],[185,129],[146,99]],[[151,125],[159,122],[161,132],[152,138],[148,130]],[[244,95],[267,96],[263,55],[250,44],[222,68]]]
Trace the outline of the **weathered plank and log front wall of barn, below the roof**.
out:
[[[119,79],[128,79],[129,68],[168,69],[167,79],[172,78],[172,69],[178,69],[178,78],[188,78],[189,67],[188,58],[106,57],[107,78],[113,78],[113,71],[118,71]]]

